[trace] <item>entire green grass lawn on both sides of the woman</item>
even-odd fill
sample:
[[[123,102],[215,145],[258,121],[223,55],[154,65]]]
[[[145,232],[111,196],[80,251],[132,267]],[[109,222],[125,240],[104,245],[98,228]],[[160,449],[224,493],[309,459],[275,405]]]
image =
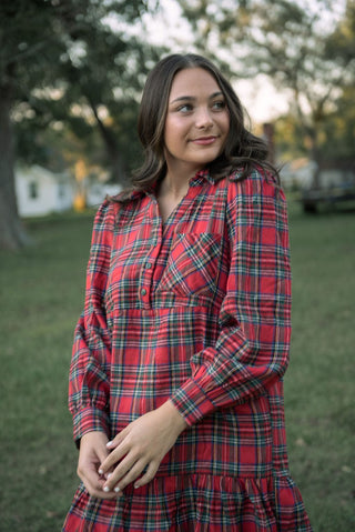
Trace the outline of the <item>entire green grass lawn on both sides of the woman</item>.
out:
[[[293,341],[285,378],[292,474],[315,532],[354,518],[355,212],[290,208]],[[67,410],[92,213],[28,222],[37,244],[0,254],[0,529],[61,530],[77,488]]]

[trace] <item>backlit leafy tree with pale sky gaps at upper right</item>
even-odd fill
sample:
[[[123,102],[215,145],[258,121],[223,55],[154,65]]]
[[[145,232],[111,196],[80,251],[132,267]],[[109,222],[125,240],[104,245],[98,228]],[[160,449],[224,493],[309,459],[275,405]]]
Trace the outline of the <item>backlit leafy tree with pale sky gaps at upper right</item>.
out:
[[[329,0],[182,0],[180,4],[200,49],[226,60],[240,78],[263,73],[288,91],[291,111],[312,158],[320,162],[322,127],[355,80],[354,0],[348,0],[343,14],[338,2]]]

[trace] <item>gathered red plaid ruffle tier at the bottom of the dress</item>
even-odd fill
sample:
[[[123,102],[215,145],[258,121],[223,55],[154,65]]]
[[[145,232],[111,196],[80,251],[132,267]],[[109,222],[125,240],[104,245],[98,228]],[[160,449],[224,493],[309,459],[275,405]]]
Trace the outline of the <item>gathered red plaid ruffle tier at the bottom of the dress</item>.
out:
[[[116,501],[80,486],[65,532],[311,532],[302,496],[287,476],[159,476]]]

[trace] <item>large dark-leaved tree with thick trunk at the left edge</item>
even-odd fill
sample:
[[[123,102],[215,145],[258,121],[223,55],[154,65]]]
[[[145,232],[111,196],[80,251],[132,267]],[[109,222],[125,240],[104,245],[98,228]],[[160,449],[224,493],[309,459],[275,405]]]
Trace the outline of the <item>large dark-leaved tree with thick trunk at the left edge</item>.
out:
[[[73,108],[83,114],[89,109],[113,173],[122,173],[113,127],[120,120],[110,122],[102,114],[116,112],[123,99],[130,106],[140,90],[152,49],[126,29],[138,24],[146,9],[144,0],[0,3],[0,247],[18,249],[28,242],[16,205],[14,113],[34,117],[45,128],[54,119],[78,126],[85,117],[73,116]],[[126,119],[122,111],[116,117],[122,114]]]

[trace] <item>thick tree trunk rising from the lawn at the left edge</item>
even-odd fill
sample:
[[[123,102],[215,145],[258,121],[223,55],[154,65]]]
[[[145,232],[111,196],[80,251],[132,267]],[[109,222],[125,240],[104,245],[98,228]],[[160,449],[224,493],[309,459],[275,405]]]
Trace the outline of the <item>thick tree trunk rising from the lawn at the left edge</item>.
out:
[[[10,74],[10,72],[8,72]],[[18,250],[30,243],[19,219],[13,172],[13,133],[10,120],[11,81],[0,84],[0,248]]]

